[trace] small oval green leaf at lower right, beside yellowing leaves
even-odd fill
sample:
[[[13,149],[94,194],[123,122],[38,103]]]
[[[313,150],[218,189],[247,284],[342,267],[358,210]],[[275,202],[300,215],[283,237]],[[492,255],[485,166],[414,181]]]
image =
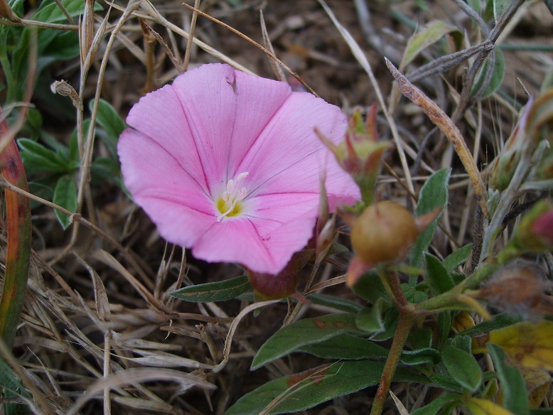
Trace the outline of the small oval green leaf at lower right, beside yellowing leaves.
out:
[[[453,346],[444,347],[441,355],[447,371],[463,388],[476,391],[482,382],[482,370],[473,355]]]

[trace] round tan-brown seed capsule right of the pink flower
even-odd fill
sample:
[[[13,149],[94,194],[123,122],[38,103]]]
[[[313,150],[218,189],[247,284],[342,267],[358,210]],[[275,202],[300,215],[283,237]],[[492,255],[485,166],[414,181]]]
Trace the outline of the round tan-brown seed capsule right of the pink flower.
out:
[[[403,259],[419,229],[407,209],[390,201],[370,205],[353,223],[351,244],[367,264]]]

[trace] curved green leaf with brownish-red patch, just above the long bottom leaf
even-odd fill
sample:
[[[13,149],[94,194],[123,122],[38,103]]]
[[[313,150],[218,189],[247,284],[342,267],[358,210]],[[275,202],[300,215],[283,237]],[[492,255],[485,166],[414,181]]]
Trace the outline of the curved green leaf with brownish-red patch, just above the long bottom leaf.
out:
[[[289,355],[299,347],[312,345],[343,333],[360,333],[355,327],[353,314],[328,314],[296,321],[281,328],[262,345],[254,357],[252,370]]]

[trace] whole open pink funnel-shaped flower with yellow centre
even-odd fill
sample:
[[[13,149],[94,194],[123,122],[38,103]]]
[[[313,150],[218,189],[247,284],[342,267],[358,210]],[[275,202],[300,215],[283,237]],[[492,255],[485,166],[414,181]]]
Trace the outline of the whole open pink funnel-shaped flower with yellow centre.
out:
[[[190,70],[129,112],[124,183],[169,242],[208,262],[277,274],[313,235],[319,180],[331,209],[359,190],[313,132],[342,139],[334,107],[228,65]]]

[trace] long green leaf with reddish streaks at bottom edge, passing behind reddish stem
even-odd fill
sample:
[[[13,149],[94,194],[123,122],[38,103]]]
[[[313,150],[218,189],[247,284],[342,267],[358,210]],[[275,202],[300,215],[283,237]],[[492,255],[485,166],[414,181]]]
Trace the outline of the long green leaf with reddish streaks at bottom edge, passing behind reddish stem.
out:
[[[238,399],[225,415],[284,414],[303,411],[335,397],[357,392],[380,382],[384,363],[334,362],[298,374],[275,379]],[[405,367],[397,367],[394,382],[429,380]],[[266,409],[271,402],[274,406]]]

